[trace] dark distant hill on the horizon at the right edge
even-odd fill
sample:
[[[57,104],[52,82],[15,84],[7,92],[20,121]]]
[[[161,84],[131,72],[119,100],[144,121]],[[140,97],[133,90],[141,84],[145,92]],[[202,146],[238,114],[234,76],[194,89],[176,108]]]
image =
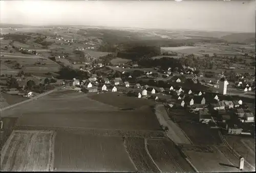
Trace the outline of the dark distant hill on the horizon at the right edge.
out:
[[[221,38],[228,42],[255,43],[255,33],[234,33]]]

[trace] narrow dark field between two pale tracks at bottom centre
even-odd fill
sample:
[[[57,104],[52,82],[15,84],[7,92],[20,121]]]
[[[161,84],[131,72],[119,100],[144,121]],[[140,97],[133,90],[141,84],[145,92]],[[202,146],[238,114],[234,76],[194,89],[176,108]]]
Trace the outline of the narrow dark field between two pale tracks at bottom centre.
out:
[[[125,138],[124,145],[139,172],[160,172],[146,152],[144,139]]]

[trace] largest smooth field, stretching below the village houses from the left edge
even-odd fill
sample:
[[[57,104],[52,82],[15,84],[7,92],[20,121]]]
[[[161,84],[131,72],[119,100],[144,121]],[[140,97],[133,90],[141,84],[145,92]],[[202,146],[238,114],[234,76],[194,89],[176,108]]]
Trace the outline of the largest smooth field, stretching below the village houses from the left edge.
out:
[[[86,94],[78,92],[65,93],[65,95],[52,93],[8,111],[2,111],[4,117],[17,117],[20,114],[22,116],[18,119],[18,126],[161,130],[150,108],[118,110],[91,100]]]

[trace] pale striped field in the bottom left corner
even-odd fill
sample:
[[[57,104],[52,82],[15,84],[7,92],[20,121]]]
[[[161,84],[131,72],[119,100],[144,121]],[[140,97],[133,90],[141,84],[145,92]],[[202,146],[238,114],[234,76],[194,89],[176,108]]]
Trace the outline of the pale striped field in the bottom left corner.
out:
[[[3,171],[51,171],[54,133],[13,131],[1,150]]]

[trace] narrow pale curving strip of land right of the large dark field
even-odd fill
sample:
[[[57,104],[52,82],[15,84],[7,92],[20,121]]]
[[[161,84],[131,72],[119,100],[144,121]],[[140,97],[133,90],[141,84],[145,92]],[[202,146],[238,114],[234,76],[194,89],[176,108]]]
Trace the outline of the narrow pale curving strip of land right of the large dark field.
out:
[[[190,140],[186,137],[183,131],[176,125],[175,122],[169,119],[168,113],[164,106],[156,105],[156,116],[159,120],[160,125],[168,127],[166,135],[168,138],[175,143],[191,144]]]

